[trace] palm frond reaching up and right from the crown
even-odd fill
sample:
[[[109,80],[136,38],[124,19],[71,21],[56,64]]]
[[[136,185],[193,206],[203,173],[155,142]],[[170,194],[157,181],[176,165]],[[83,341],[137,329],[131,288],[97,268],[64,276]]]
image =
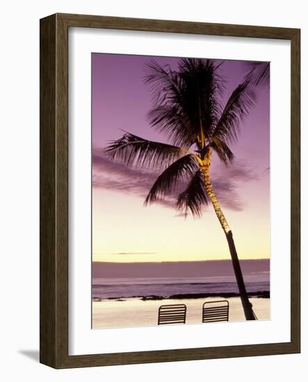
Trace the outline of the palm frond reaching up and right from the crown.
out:
[[[257,94],[249,81],[245,81],[234,89],[225,109],[213,130],[213,137],[227,142],[236,142],[240,122],[257,101]]]

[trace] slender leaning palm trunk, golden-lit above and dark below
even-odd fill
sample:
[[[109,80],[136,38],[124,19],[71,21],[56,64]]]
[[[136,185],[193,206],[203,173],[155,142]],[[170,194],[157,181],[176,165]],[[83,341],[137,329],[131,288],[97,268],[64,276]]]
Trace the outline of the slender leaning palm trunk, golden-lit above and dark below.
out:
[[[245,283],[244,283],[244,279],[243,279],[241,265],[240,265],[240,262],[238,260],[238,255],[236,252],[236,247],[234,244],[232,231],[229,228],[229,224],[227,223],[227,219],[225,218],[225,215],[223,215],[223,213],[222,213],[222,210],[220,208],[220,204],[218,203],[218,199],[216,197],[216,194],[213,191],[213,186],[211,184],[211,178],[209,175],[209,167],[210,167],[210,159],[209,159],[209,163],[202,166],[202,172],[204,174],[206,194],[208,194],[209,198],[211,199],[211,202],[213,204],[213,207],[214,207],[214,210],[215,210],[216,215],[218,217],[218,220],[219,220],[219,222],[222,226],[222,229],[224,230],[226,238],[227,238],[227,242],[229,245],[229,251],[230,251],[231,258],[232,258],[232,265],[234,268],[234,273],[236,276],[236,282],[238,285],[238,291],[240,293],[241,302],[242,302],[243,310],[245,313],[245,318],[247,320],[256,319],[254,312],[252,310],[252,304],[250,304],[250,301],[248,299],[248,295],[246,292],[246,287],[245,287]]]

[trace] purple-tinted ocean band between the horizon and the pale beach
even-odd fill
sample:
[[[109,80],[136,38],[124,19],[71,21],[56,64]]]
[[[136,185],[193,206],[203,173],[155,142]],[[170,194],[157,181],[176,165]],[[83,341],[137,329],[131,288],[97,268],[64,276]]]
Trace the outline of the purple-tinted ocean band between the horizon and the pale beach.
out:
[[[269,297],[269,260],[241,260],[241,265],[248,294],[252,297]],[[125,271],[127,275],[123,277]],[[188,276],[184,276],[185,273]],[[116,277],[117,274],[121,277]],[[238,287],[229,260],[181,262],[177,265],[172,263],[150,263],[150,265],[94,263],[93,265],[94,301],[131,297],[187,299],[235,295],[238,295]]]

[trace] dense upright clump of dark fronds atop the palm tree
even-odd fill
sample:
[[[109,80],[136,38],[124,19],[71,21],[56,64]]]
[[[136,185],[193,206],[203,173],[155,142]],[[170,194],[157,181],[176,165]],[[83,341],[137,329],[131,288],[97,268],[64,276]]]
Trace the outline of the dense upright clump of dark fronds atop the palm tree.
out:
[[[220,65],[217,65],[217,67]],[[149,123],[176,145],[191,147],[200,130],[209,136],[220,115],[224,80],[212,60],[184,58],[177,71],[147,64],[145,83],[151,86],[154,107]]]

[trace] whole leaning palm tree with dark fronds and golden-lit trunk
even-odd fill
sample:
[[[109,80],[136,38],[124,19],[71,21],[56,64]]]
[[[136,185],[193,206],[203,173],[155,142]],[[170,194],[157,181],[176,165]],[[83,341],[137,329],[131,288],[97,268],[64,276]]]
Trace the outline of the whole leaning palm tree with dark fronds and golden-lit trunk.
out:
[[[163,199],[184,181],[188,184],[178,195],[179,211],[200,216],[211,201],[227,238],[245,318],[256,319],[232,231],[210,176],[213,154],[226,165],[234,160],[230,144],[236,142],[241,119],[254,106],[256,96],[250,82],[244,81],[222,107],[225,79],[218,73],[220,65],[213,60],[184,58],[175,70],[155,61],[148,63],[144,79],[154,99],[154,107],[148,113],[149,124],[165,133],[170,144],[124,132],[122,138],[108,144],[105,152],[124,165],[162,171],[149,190],[145,205]]]

